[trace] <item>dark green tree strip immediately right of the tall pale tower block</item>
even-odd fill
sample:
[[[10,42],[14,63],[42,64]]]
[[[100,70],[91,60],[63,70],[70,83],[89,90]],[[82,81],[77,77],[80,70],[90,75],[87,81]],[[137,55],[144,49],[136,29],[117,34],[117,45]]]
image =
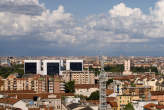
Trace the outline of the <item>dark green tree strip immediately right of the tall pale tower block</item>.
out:
[[[131,67],[132,72],[155,72],[158,73],[157,67]]]

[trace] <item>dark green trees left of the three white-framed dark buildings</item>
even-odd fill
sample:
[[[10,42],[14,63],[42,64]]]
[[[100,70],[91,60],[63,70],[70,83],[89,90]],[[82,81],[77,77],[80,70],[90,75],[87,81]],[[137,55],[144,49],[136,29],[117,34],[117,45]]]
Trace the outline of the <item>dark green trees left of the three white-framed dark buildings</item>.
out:
[[[10,74],[13,73],[19,73],[19,75],[24,74],[24,65],[23,64],[17,64],[17,65],[11,65],[11,66],[0,66],[0,76],[3,78],[7,78]]]

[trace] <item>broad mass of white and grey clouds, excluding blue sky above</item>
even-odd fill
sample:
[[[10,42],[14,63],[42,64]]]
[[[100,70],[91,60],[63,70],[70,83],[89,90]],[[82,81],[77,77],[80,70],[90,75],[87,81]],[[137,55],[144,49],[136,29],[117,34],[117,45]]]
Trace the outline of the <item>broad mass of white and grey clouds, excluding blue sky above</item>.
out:
[[[13,45],[19,43],[28,48],[29,53],[33,48],[34,51],[63,50],[63,55],[68,51],[74,55],[77,52],[96,55],[99,50],[109,55],[111,52],[145,52],[146,55],[146,52],[149,54],[156,48],[163,48],[163,15],[164,0],[150,7],[149,14],[120,3],[106,13],[90,15],[85,19],[77,19],[62,5],[56,10],[49,10],[38,0],[1,0],[0,40],[8,44],[15,42]],[[2,43],[0,49],[7,54],[2,48],[6,43]]]

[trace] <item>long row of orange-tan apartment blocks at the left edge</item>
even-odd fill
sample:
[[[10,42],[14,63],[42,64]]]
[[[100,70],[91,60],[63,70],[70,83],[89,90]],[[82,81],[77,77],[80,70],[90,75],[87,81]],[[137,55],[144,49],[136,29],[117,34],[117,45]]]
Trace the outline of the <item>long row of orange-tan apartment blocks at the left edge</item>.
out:
[[[1,79],[0,91],[25,91],[32,90],[36,93],[64,93],[64,83],[59,76],[32,75],[17,78],[10,75]]]

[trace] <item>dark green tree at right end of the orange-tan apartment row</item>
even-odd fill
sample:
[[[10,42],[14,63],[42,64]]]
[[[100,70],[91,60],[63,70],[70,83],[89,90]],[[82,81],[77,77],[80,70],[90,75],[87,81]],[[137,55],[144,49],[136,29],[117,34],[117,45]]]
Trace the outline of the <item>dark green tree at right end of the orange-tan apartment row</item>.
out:
[[[74,93],[75,92],[75,81],[69,81],[65,83],[65,92]]]

